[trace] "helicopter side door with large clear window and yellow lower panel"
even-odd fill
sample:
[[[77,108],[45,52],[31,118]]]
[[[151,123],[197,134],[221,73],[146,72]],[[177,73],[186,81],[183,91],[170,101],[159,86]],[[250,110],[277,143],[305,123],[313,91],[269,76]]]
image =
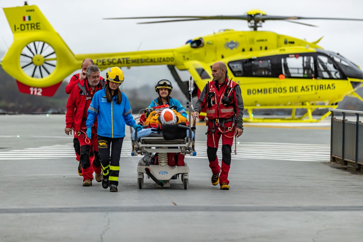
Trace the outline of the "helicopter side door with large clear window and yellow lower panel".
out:
[[[281,56],[280,63],[283,74],[280,76],[283,102],[294,104],[315,101],[318,93],[314,89],[317,84],[314,56],[305,53],[284,55]]]

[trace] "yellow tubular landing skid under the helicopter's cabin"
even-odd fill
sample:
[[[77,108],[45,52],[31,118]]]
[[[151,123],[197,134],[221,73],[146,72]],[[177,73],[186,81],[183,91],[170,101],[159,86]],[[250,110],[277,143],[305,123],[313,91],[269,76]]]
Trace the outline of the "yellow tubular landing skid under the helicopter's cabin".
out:
[[[306,103],[305,105],[289,105],[289,106],[245,106],[245,110],[248,111],[248,118],[244,118],[244,122],[249,123],[282,123],[282,122],[320,122],[330,115],[330,111],[327,111],[325,114],[321,115],[319,119],[313,118],[313,111],[317,109],[323,108],[337,108],[338,105],[311,105]],[[306,113],[302,116],[295,116],[296,109],[306,109]],[[271,117],[271,118],[256,118],[253,116],[254,109],[291,109],[291,117],[280,118],[280,117]]]

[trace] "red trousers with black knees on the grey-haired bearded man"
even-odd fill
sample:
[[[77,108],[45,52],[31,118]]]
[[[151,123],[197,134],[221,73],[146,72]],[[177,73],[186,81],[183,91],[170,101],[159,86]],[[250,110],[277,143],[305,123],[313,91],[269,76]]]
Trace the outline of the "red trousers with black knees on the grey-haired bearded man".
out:
[[[83,130],[86,132],[86,129]],[[86,134],[83,132],[78,132],[78,141],[81,145],[81,155],[79,156],[79,161],[82,165],[82,176],[83,181],[93,180],[93,171],[95,173],[101,173],[101,163],[98,156],[98,142],[97,142],[97,131],[92,127],[91,139],[86,139]],[[86,143],[86,140],[90,143]],[[94,153],[94,157],[90,154]]]

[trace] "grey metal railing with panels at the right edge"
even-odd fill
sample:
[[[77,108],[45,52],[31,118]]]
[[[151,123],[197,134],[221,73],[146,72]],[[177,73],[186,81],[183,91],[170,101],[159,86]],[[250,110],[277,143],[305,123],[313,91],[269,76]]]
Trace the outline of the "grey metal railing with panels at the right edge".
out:
[[[341,110],[329,108],[331,111],[330,129],[330,161],[338,162],[341,159],[342,165],[350,165],[356,170],[363,165],[363,124],[359,121],[362,111]],[[343,119],[337,119],[334,114],[341,112]],[[346,114],[355,114],[356,121],[348,121]],[[361,134],[359,136],[359,134]],[[360,148],[359,148],[360,147]]]

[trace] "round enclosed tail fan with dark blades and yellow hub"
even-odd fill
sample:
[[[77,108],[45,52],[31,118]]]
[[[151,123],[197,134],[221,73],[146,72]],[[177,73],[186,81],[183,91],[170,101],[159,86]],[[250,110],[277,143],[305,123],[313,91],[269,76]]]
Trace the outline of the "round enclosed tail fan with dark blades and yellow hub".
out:
[[[46,42],[30,42],[21,51],[20,65],[29,77],[45,78],[56,68],[57,54]]]

